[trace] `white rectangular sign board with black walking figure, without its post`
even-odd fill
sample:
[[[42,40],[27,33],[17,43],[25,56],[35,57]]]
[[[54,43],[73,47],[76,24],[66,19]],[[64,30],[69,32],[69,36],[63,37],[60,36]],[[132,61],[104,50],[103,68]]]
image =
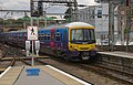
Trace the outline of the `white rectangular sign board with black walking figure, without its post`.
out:
[[[28,40],[38,40],[38,26],[28,26]]]

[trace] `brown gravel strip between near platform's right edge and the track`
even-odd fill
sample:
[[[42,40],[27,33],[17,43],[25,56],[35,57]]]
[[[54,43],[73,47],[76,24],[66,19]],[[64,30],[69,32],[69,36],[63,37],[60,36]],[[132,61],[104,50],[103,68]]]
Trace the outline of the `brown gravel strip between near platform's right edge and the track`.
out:
[[[41,60],[44,63],[48,63],[50,65],[53,65],[62,71],[65,71],[68,73],[71,73],[74,76],[78,76],[86,82],[90,82],[94,85],[127,85],[125,83],[112,79],[108,76],[104,76],[102,74],[95,73],[91,70],[83,70],[79,66],[75,66],[76,63],[65,62],[65,61],[57,61],[57,60]]]

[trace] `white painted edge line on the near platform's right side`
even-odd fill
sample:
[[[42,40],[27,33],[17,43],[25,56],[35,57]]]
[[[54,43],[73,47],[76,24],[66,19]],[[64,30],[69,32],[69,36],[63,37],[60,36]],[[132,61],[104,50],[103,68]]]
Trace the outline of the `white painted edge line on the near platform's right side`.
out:
[[[65,72],[63,72],[63,71],[61,71],[61,70],[58,70],[58,68],[55,68],[55,67],[53,67],[53,66],[51,66],[51,65],[45,65],[45,66],[47,66],[47,67],[50,67],[50,68],[52,68],[52,70],[54,70],[54,71],[57,71],[57,72],[59,72],[59,73],[61,73],[61,74],[63,74],[63,75],[65,75],[65,76],[68,76],[68,77],[71,77],[71,78],[78,81],[79,83],[82,83],[83,85],[92,85],[92,84],[89,84],[89,83],[86,83],[86,82],[84,82],[84,81],[82,81],[82,79],[80,79],[80,78],[78,78],[78,77],[75,77],[75,76],[72,76],[72,75],[70,75],[70,74],[68,74],[68,73],[65,73]]]

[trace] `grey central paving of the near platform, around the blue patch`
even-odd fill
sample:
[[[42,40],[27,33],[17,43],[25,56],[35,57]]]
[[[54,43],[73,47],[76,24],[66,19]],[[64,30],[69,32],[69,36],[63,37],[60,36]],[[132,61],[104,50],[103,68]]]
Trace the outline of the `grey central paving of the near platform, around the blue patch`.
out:
[[[41,70],[39,76],[27,76],[25,67],[14,85],[65,85]]]

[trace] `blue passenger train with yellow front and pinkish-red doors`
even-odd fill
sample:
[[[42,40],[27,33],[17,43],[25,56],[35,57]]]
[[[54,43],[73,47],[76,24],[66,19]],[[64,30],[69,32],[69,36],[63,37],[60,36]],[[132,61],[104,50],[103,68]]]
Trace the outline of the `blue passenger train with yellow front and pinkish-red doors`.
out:
[[[24,47],[27,30],[0,33],[0,41]],[[90,60],[96,55],[94,26],[71,22],[38,30],[40,52],[69,60]]]

